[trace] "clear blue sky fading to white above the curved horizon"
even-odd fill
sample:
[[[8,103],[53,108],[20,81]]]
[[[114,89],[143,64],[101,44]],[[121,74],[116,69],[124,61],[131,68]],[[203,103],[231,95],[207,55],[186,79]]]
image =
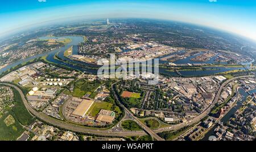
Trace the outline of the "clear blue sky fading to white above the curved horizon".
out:
[[[78,19],[154,18],[199,24],[256,41],[255,0],[0,0],[0,37]]]

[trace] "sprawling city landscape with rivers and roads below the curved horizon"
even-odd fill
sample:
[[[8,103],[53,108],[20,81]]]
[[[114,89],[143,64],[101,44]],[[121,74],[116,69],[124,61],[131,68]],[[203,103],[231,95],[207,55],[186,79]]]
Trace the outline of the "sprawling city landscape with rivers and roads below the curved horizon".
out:
[[[0,140],[253,141],[256,49],[247,44],[151,19],[21,33],[0,47]],[[152,59],[159,75],[142,72]],[[115,69],[132,60],[139,75],[98,77],[110,60]]]

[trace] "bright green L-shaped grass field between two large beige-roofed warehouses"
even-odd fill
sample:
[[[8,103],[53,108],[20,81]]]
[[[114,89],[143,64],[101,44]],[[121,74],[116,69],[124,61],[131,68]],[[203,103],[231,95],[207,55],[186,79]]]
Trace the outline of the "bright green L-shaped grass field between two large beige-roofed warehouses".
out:
[[[105,110],[110,110],[112,108],[113,104],[112,103],[107,103],[107,102],[101,102],[97,103],[94,102],[92,107],[88,110],[88,113],[90,116],[96,117],[98,113],[101,111],[101,109]]]

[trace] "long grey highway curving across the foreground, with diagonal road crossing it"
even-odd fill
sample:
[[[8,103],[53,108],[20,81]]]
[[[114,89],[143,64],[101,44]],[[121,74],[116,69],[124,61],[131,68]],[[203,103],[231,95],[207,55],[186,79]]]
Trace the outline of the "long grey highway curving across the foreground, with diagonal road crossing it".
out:
[[[232,82],[235,79],[247,78],[247,77],[253,77],[253,75],[234,77],[234,78],[229,79],[228,81],[225,81],[224,83],[222,83],[222,85],[220,86],[212,104],[207,109],[205,109],[205,111],[203,113],[201,113],[199,116],[195,117],[194,119],[192,119],[191,121],[189,121],[187,123],[172,125],[170,127],[160,128],[160,129],[156,129],[156,130],[153,131],[153,130],[149,129],[146,125],[142,124],[141,121],[139,121],[137,117],[133,116],[130,113],[130,111],[128,111],[126,108],[125,108],[125,112],[126,112],[126,115],[128,114],[131,117],[133,117],[133,119],[139,125],[142,126],[142,128],[144,129],[145,132],[150,134],[156,140],[162,141],[163,139],[160,138],[156,133],[163,132],[163,131],[174,131],[174,130],[178,130],[180,128],[183,128],[184,126],[189,126],[189,125],[197,123],[198,121],[200,121],[201,119],[203,119],[205,116],[207,116],[209,114],[209,112],[212,109],[212,107],[214,106],[214,104],[218,101],[218,98],[221,94],[221,91],[222,91],[223,87],[225,87],[229,82]],[[79,132],[79,133],[96,134],[98,136],[129,137],[129,136],[144,136],[144,135],[146,135],[146,133],[143,132],[143,131],[138,131],[138,132],[118,131],[118,132],[114,132],[114,131],[109,130],[109,129],[89,128],[89,127],[86,127],[86,126],[71,124],[71,123],[67,123],[67,122],[64,122],[64,121],[57,120],[57,119],[53,119],[52,117],[49,117],[46,114],[44,114],[42,112],[38,112],[35,109],[33,109],[32,107],[30,107],[30,105],[28,104],[22,90],[20,90],[19,87],[15,86],[15,85],[11,85],[9,83],[1,83],[1,84],[15,88],[19,92],[25,107],[27,108],[27,110],[32,115],[36,116],[39,120],[45,121],[46,123],[51,124],[51,125],[56,126],[56,127],[59,127],[61,129],[67,129],[67,130],[71,130],[73,132]]]

